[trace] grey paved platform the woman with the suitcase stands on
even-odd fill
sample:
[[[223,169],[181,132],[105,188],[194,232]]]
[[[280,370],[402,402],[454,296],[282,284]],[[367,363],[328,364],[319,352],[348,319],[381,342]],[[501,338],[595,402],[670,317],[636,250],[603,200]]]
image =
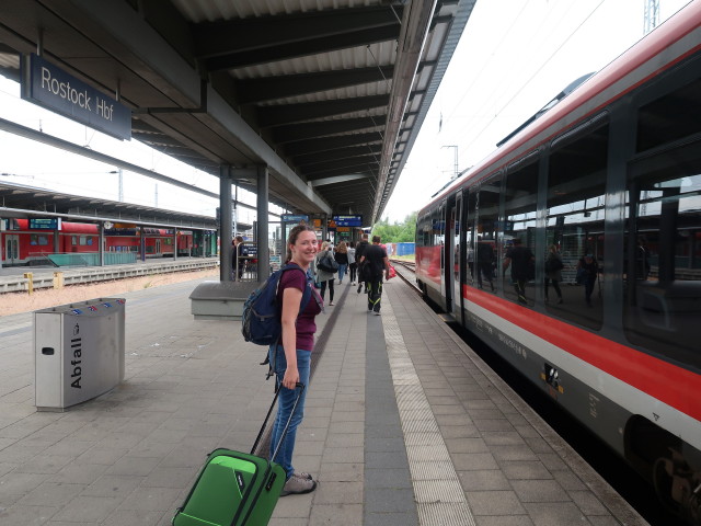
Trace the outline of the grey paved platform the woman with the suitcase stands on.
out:
[[[32,315],[0,319],[0,524],[169,525],[209,451],[251,447],[265,350],[195,321],[198,283],[125,294],[125,381],[64,413],[34,407]],[[295,453],[319,487],[272,525],[646,524],[411,287],[381,316],[335,288]]]

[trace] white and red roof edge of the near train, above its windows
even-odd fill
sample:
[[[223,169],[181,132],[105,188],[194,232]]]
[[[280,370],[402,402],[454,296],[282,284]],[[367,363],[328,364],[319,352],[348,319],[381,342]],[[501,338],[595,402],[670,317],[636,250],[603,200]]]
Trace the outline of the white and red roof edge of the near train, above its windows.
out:
[[[697,32],[697,34],[693,34]],[[550,110],[542,114],[536,114],[536,118],[527,121],[525,126],[519,127],[515,133],[505,138],[502,147],[490,153],[482,161],[461,173],[449,187],[439,191],[439,195],[427,203],[423,208],[427,208],[433,203],[438,202],[455,188],[466,184],[478,176],[489,175],[504,168],[513,161],[514,153],[522,148],[530,139],[545,134],[539,144],[552,139],[560,133],[562,127],[554,127],[566,116],[577,108],[590,105],[588,111],[578,116],[576,122],[568,124],[568,127],[586,119],[599,112],[611,101],[624,95],[637,85],[659,75],[665,69],[674,66],[683,58],[701,49],[701,2],[691,2],[667,21],[645,35],[637,43],[622,53],[619,57],[605,66],[601,70],[591,75],[581,82],[570,94],[562,98]],[[681,45],[675,46],[676,43]],[[653,60],[664,54],[664,59],[658,64]],[[642,68],[645,64],[651,64],[650,68]],[[579,79],[577,79],[579,80]],[[618,83],[625,80],[625,88],[620,89]],[[575,81],[576,82],[576,81]],[[548,105],[545,105],[547,107]],[[540,112],[539,112],[540,113]],[[553,127],[552,134],[548,134]],[[532,151],[529,145],[528,153]],[[482,172],[490,168],[489,174]]]

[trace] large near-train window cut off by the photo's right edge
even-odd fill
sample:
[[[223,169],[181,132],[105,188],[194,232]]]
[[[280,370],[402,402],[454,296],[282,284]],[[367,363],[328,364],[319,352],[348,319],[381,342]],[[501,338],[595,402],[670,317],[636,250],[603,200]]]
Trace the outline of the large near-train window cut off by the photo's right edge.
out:
[[[628,340],[701,369],[701,140],[631,163],[625,235]]]

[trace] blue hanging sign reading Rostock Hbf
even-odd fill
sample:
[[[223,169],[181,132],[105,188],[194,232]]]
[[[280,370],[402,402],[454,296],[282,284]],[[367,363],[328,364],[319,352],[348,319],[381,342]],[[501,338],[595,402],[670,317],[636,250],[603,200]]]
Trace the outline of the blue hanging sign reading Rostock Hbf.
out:
[[[116,137],[131,139],[131,111],[31,54],[22,61],[22,99]]]

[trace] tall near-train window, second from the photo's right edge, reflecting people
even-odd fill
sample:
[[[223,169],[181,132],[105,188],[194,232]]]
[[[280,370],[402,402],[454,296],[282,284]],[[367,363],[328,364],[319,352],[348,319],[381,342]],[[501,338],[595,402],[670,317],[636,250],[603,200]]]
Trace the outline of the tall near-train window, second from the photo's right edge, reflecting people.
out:
[[[545,309],[589,329],[602,324],[604,216],[609,128],[597,116],[555,139],[548,169]],[[552,255],[550,255],[552,254]],[[552,263],[552,259],[559,259]],[[548,264],[548,267],[545,267]]]

